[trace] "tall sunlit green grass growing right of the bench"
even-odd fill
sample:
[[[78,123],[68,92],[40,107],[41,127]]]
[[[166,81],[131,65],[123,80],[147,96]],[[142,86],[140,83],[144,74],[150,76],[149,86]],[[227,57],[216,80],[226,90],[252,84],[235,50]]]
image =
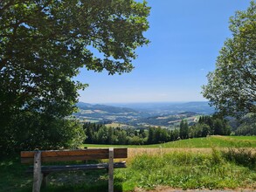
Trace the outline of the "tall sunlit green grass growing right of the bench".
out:
[[[125,170],[116,170],[123,189],[154,189],[170,186],[182,189],[256,188],[255,169],[227,161],[213,149],[211,154],[173,152],[141,154]]]

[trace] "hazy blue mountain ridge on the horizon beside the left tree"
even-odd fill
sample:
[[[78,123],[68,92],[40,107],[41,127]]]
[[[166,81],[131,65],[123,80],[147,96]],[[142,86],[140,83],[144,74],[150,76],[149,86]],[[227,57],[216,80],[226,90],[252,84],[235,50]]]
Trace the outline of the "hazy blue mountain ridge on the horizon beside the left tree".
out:
[[[128,107],[119,107],[119,106],[107,106],[107,105],[100,105],[100,104],[89,104],[78,102],[77,105],[80,109],[83,110],[93,110],[93,111],[102,111],[105,113],[135,113],[134,109]]]

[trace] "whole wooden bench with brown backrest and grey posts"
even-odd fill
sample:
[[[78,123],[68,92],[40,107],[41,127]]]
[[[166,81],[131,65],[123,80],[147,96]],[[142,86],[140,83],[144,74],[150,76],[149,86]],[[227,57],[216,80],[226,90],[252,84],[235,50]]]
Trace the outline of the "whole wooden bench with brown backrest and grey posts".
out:
[[[108,169],[108,191],[114,191],[114,168],[126,168],[126,162],[114,159],[127,158],[127,148],[89,148],[78,150],[22,151],[21,162],[33,163],[27,172],[33,173],[33,192],[39,192],[41,183],[47,185],[47,175],[59,171]],[[108,159],[108,163],[42,166],[44,162],[87,161]]]

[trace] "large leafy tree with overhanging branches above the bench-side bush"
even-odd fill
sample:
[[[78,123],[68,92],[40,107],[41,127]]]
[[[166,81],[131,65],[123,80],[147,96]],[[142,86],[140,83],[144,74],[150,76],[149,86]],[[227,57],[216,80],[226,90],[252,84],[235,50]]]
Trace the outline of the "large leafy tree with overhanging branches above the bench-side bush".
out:
[[[130,72],[135,49],[149,43],[148,16],[133,0],[0,1],[0,141],[17,115],[73,113],[86,87],[73,80],[81,67]]]

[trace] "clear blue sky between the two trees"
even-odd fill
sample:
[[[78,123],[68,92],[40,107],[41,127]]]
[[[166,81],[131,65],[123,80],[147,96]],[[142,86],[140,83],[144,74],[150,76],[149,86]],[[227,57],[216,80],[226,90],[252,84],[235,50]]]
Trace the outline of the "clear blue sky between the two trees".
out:
[[[81,70],[87,103],[201,101],[201,86],[232,34],[229,17],[250,0],[148,0],[151,43],[136,50],[133,72],[108,76]]]

